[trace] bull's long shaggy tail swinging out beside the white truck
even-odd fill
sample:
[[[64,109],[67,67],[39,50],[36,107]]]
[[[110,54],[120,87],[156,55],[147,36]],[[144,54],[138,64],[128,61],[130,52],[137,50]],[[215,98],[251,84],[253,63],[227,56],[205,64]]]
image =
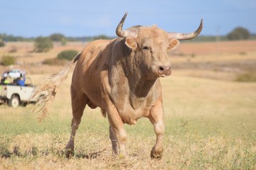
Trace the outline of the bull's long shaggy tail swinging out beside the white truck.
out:
[[[76,55],[73,60],[71,60],[65,69],[63,69],[58,74],[52,74],[49,77],[43,78],[37,85],[33,91],[31,98],[38,98],[38,102],[36,103],[36,108],[38,108],[38,112],[41,112],[42,115],[39,121],[46,118],[48,113],[48,108],[50,103],[53,101],[55,94],[58,91],[59,86],[63,83],[65,79],[68,77],[68,72],[72,68],[72,65],[78,61],[81,52]]]

